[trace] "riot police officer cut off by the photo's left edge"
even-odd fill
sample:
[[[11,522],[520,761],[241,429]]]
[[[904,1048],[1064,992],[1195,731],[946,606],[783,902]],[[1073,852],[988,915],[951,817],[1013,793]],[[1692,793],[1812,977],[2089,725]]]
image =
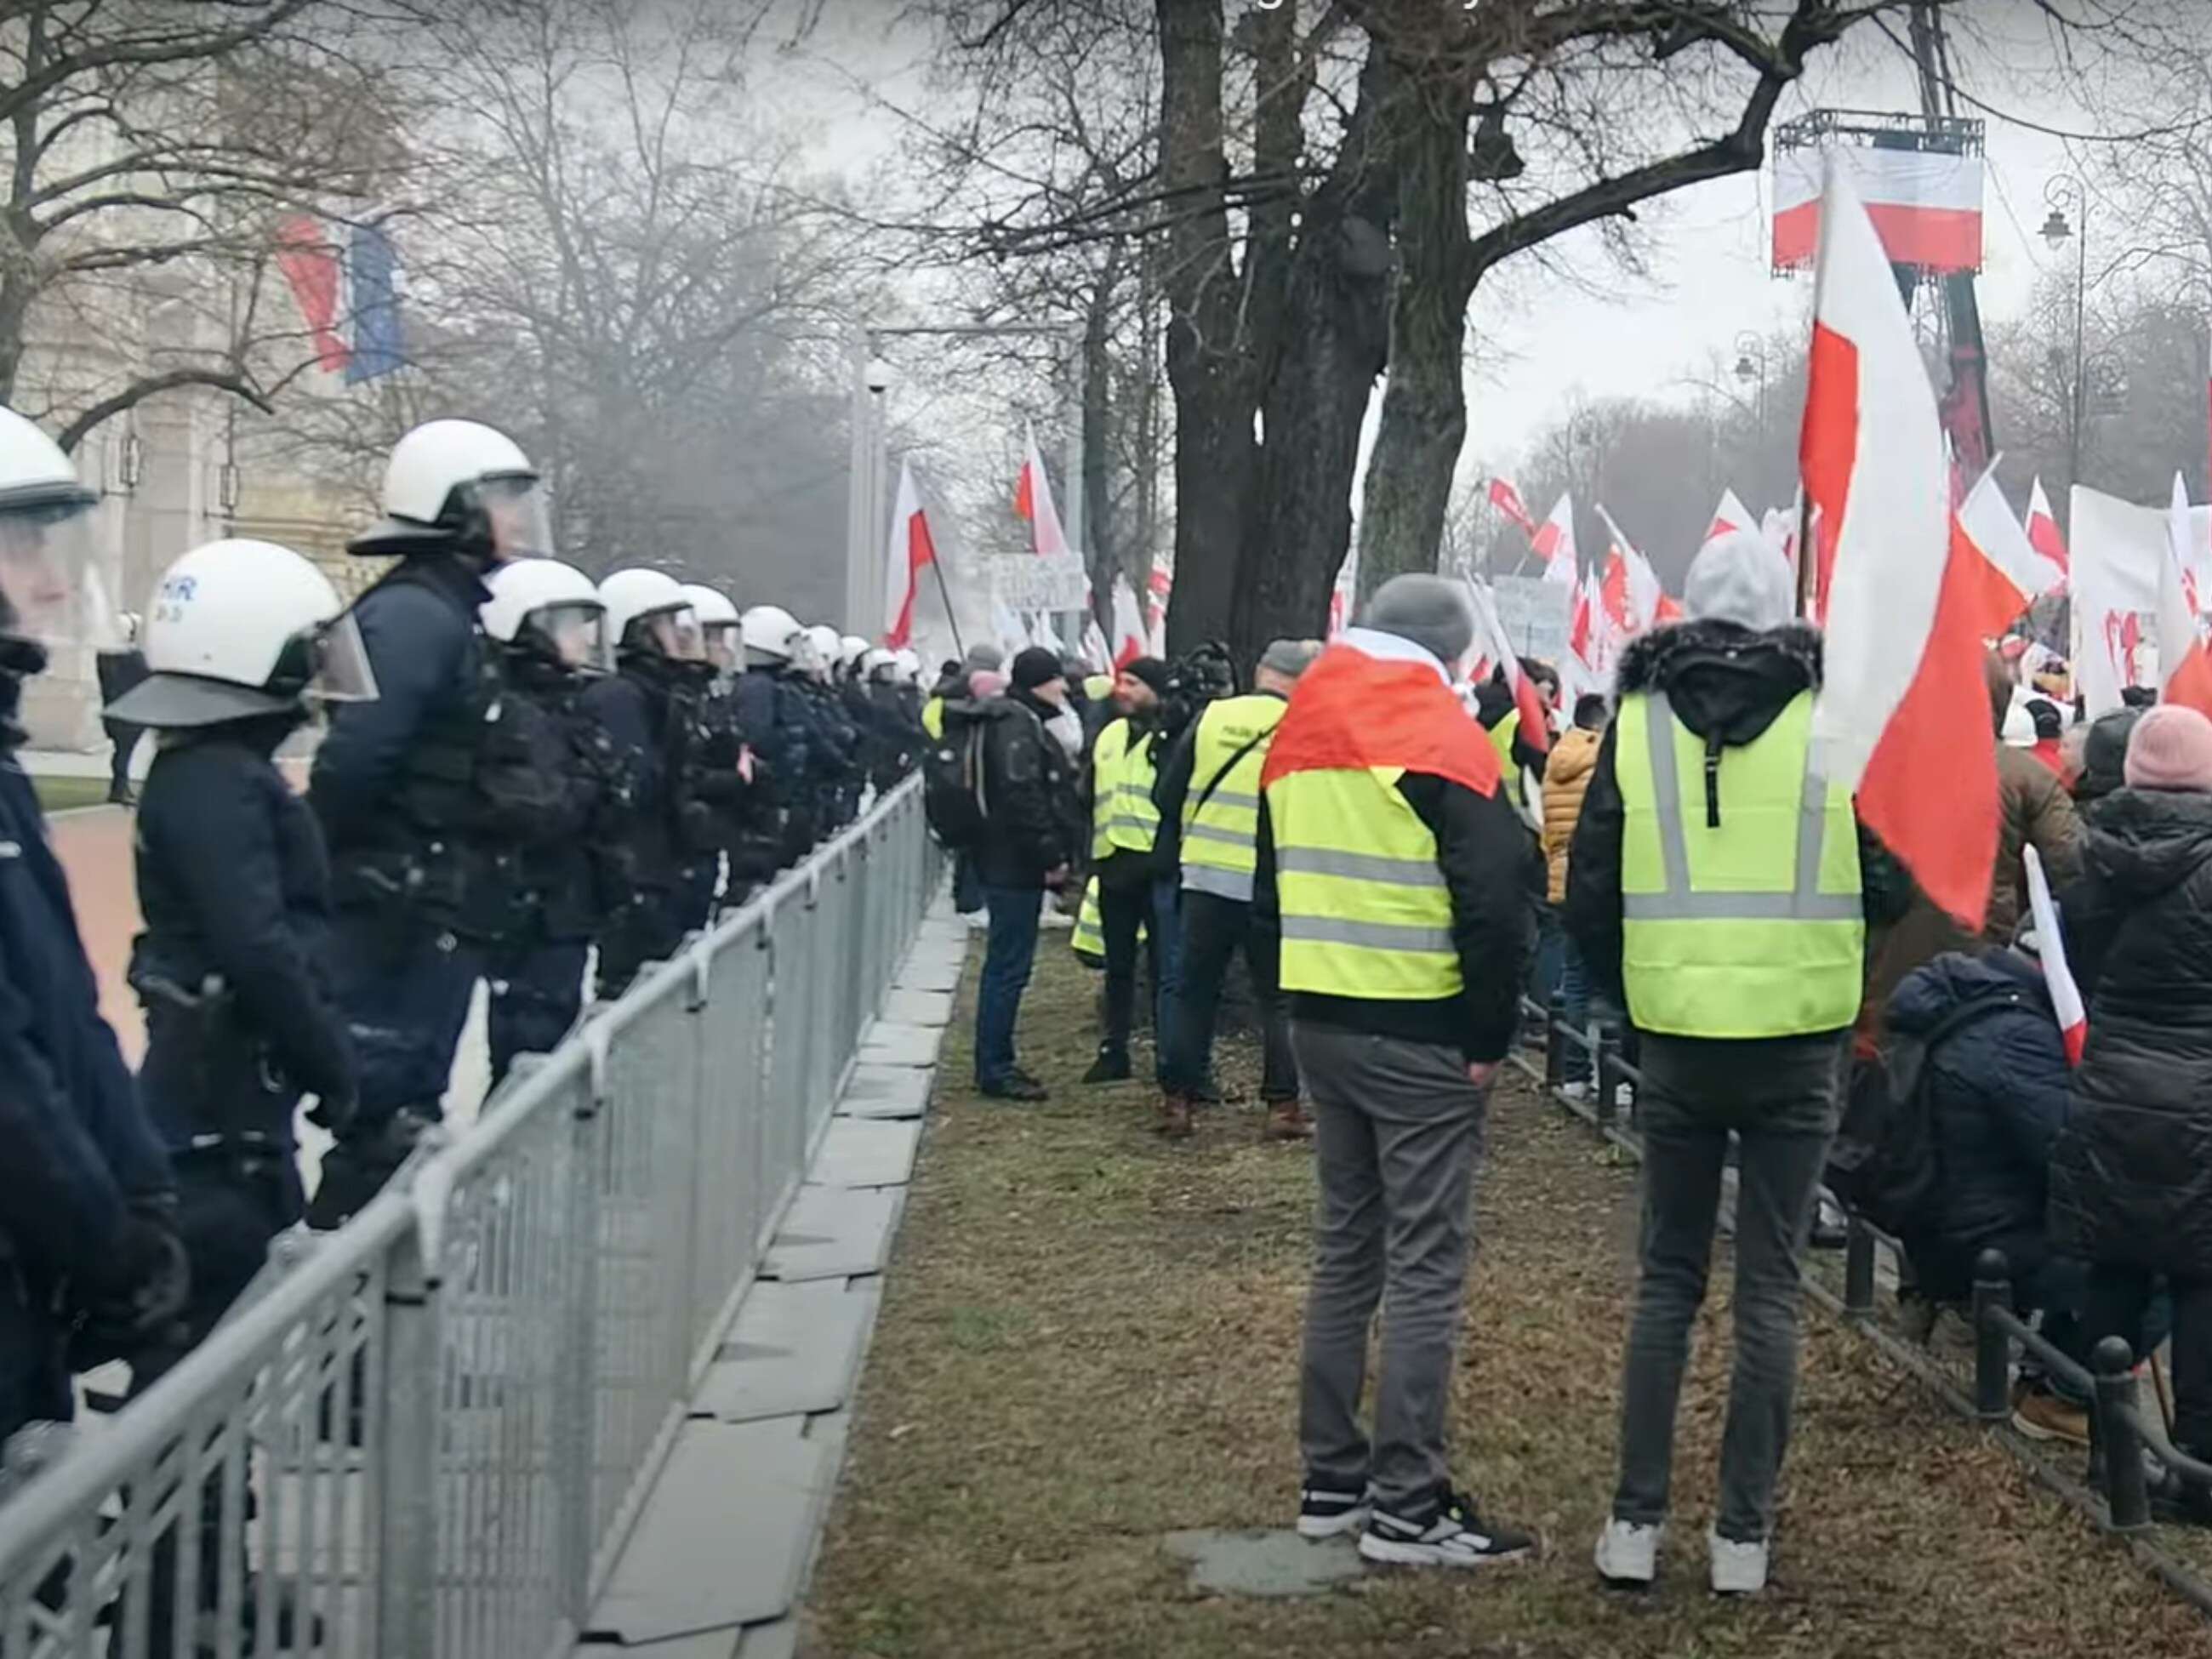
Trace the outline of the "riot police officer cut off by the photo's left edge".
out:
[[[71,1334],[128,1352],[186,1294],[168,1157],[100,1018],[69,883],[13,759],[46,653],[115,637],[100,630],[97,500],[51,438],[0,409],[0,1440],[71,1416]]]

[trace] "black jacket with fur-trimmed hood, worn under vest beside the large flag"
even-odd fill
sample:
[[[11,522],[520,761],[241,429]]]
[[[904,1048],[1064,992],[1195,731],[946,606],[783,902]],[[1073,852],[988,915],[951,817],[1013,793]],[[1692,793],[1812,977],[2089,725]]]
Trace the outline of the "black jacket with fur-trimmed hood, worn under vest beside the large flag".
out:
[[[1765,633],[1732,622],[1679,622],[1655,628],[1621,655],[1619,695],[1663,690],[1677,719],[1708,743],[1743,748],[1756,741],[1805,690],[1820,686],[1820,635],[1803,624]],[[1621,783],[1606,732],[1590,792],[1582,799],[1566,863],[1566,931],[1595,982],[1617,1002],[1621,993]],[[1867,920],[1891,922],[1911,902],[1911,885],[1860,825],[1860,885]]]

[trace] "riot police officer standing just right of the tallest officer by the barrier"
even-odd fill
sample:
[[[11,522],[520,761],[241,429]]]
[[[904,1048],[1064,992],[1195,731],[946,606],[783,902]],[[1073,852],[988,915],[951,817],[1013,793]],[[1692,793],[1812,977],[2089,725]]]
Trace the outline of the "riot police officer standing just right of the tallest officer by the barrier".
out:
[[[584,688],[608,666],[606,602],[560,560],[518,560],[484,586],[484,635],[502,684],[524,714],[535,765],[555,785],[538,834],[518,845],[504,938],[491,949],[484,1026],[491,1084],[515,1055],[551,1053],[584,1009],[584,962],[602,925],[628,902],[619,858],[628,779],[615,743],[584,710]]]

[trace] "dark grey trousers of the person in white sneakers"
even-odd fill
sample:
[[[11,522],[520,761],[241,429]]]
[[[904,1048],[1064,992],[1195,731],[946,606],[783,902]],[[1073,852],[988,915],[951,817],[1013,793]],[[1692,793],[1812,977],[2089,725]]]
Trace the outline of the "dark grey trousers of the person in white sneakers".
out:
[[[1736,1186],[1736,1367],[1721,1433],[1721,1537],[1774,1531],[1774,1482],[1796,1394],[1801,1263],[1843,1091],[1845,1040],[1644,1037],[1644,1270],[1621,1378],[1621,1482],[1613,1513],[1666,1520],[1674,1407],[1705,1301],[1728,1133]]]

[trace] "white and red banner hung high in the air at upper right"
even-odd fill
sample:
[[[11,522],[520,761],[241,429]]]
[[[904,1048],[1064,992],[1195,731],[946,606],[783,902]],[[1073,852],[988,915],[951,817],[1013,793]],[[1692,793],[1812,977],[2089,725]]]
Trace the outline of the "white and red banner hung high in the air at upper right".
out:
[[[1774,268],[1814,263],[1825,168],[1843,175],[1880,237],[1882,259],[1927,270],[1982,268],[1982,157],[1849,144],[1774,155]]]

